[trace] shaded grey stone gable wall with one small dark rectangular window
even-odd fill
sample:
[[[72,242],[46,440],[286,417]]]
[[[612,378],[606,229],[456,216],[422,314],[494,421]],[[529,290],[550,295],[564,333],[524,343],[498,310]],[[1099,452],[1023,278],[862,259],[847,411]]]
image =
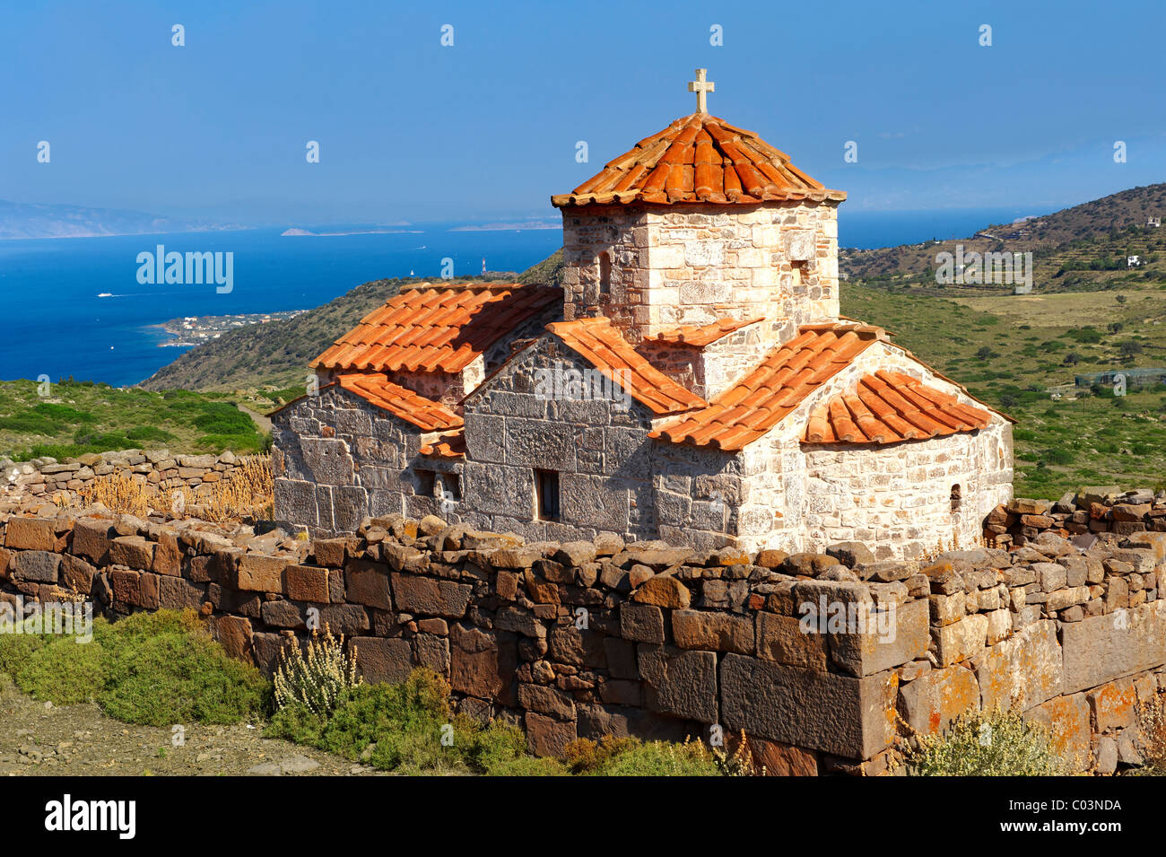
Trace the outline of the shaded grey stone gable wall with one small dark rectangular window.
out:
[[[547,375],[540,375],[546,372]],[[553,396],[540,377],[595,370],[554,336],[540,339],[465,400],[459,520],[528,539],[628,539],[722,546],[731,512],[709,508],[733,457],[648,438],[654,414],[616,388],[610,399]],[[534,472],[559,475],[557,521],[534,517]],[[693,512],[695,511],[695,514]]]

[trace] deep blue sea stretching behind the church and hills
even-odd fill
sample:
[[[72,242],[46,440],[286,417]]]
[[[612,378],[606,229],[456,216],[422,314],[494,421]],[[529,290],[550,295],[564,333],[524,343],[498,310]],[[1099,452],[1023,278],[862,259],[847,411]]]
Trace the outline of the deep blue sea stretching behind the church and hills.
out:
[[[838,238],[847,247],[893,246],[970,236],[989,223],[1014,217],[1012,210],[848,213],[843,209]],[[7,322],[0,337],[0,378],[72,377],[133,385],[184,350],[162,346],[171,337],[156,325],[171,318],[310,309],[370,280],[410,274],[437,279],[447,258],[454,260],[456,276],[480,273],[483,259],[490,271],[524,271],[562,244],[562,232],[555,229],[458,226],[308,237],[257,229],[0,240],[0,305]],[[213,283],[139,283],[138,254],[155,253],[157,245],[167,253],[233,253],[231,291],[219,294]]]

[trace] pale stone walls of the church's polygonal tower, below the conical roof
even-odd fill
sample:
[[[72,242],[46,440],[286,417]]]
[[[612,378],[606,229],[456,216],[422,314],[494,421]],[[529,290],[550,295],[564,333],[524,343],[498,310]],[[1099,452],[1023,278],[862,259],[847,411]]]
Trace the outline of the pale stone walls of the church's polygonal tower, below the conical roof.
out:
[[[564,209],[564,317],[605,315],[638,345],[668,326],[764,316],[759,358],[800,324],[837,318],[837,236],[830,203]]]

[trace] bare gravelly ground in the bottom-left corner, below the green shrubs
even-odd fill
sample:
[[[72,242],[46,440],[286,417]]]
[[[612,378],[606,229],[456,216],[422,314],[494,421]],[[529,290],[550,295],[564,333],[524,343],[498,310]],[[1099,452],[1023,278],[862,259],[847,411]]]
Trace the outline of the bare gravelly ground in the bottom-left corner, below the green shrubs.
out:
[[[371,767],[283,740],[258,728],[188,725],[174,746],[169,728],[105,717],[93,704],[36,702],[0,675],[0,775],[368,775]]]

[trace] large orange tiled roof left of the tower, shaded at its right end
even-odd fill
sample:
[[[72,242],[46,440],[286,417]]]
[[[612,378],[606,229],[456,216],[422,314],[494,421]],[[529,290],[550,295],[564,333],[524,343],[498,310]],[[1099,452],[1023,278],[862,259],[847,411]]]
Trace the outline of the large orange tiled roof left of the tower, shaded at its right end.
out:
[[[409,289],[370,312],[314,368],[459,372],[522,322],[562,301],[547,286]]]

